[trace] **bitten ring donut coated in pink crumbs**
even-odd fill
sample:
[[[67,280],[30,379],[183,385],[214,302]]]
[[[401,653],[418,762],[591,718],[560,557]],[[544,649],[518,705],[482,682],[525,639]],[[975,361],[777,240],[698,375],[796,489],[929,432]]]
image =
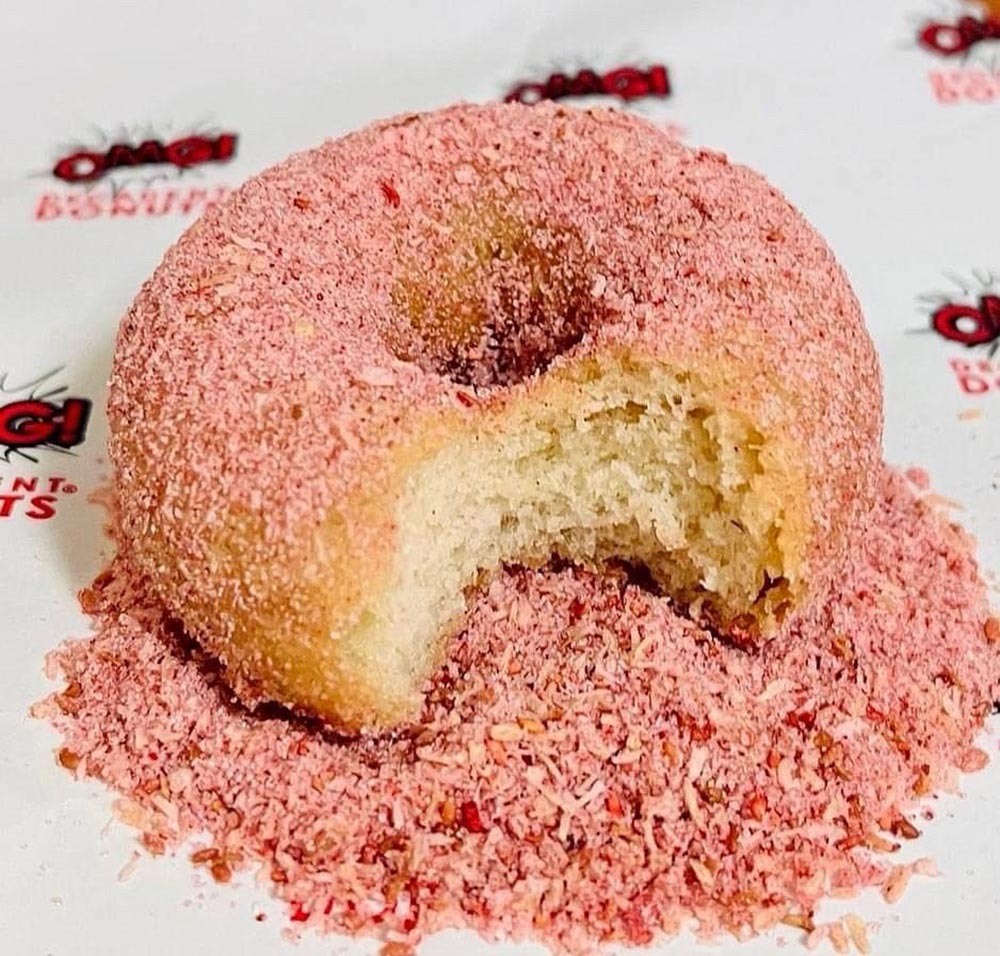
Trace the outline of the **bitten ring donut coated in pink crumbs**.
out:
[[[626,562],[752,649],[873,501],[881,379],[830,250],[649,122],[462,105],[294,155],[119,330],[123,558],[246,701],[398,725],[504,563]]]

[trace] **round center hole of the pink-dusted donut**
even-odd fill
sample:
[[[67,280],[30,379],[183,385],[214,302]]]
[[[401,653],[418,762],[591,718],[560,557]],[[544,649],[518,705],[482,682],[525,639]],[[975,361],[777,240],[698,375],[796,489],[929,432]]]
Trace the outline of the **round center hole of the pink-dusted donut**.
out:
[[[487,203],[411,240],[392,290],[395,354],[489,389],[544,371],[595,318],[579,235]]]

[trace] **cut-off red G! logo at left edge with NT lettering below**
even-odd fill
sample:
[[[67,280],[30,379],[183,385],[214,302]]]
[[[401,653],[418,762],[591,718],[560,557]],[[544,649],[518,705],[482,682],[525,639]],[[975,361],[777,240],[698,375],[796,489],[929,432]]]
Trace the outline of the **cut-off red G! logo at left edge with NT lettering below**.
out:
[[[44,455],[71,455],[87,435],[91,402],[66,395],[58,384],[63,367],[27,381],[0,374],[0,463],[21,459],[38,464]],[[44,521],[77,486],[62,475],[15,474],[0,470],[0,519]]]

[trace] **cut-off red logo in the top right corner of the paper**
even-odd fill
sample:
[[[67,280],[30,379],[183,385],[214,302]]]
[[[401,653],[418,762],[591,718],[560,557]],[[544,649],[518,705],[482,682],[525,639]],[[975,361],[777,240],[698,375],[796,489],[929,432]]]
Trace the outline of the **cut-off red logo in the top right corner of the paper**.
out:
[[[927,75],[939,103],[1000,101],[1000,0],[962,0],[946,16],[925,17],[916,40],[942,63],[954,64]]]

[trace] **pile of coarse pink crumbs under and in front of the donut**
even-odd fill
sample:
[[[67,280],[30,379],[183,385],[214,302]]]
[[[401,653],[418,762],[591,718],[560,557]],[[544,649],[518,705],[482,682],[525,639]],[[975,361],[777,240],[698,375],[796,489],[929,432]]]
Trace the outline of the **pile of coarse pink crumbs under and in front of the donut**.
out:
[[[921,797],[983,767],[1000,622],[965,536],[886,471],[836,601],[762,651],[624,579],[505,572],[405,735],[345,741],[233,704],[115,566],[52,656],[59,759],[125,795],[153,853],[193,832],[294,921],[402,951],[471,927],[573,952],[693,923],[810,931],[909,870]],[[819,931],[817,931],[819,932]]]

